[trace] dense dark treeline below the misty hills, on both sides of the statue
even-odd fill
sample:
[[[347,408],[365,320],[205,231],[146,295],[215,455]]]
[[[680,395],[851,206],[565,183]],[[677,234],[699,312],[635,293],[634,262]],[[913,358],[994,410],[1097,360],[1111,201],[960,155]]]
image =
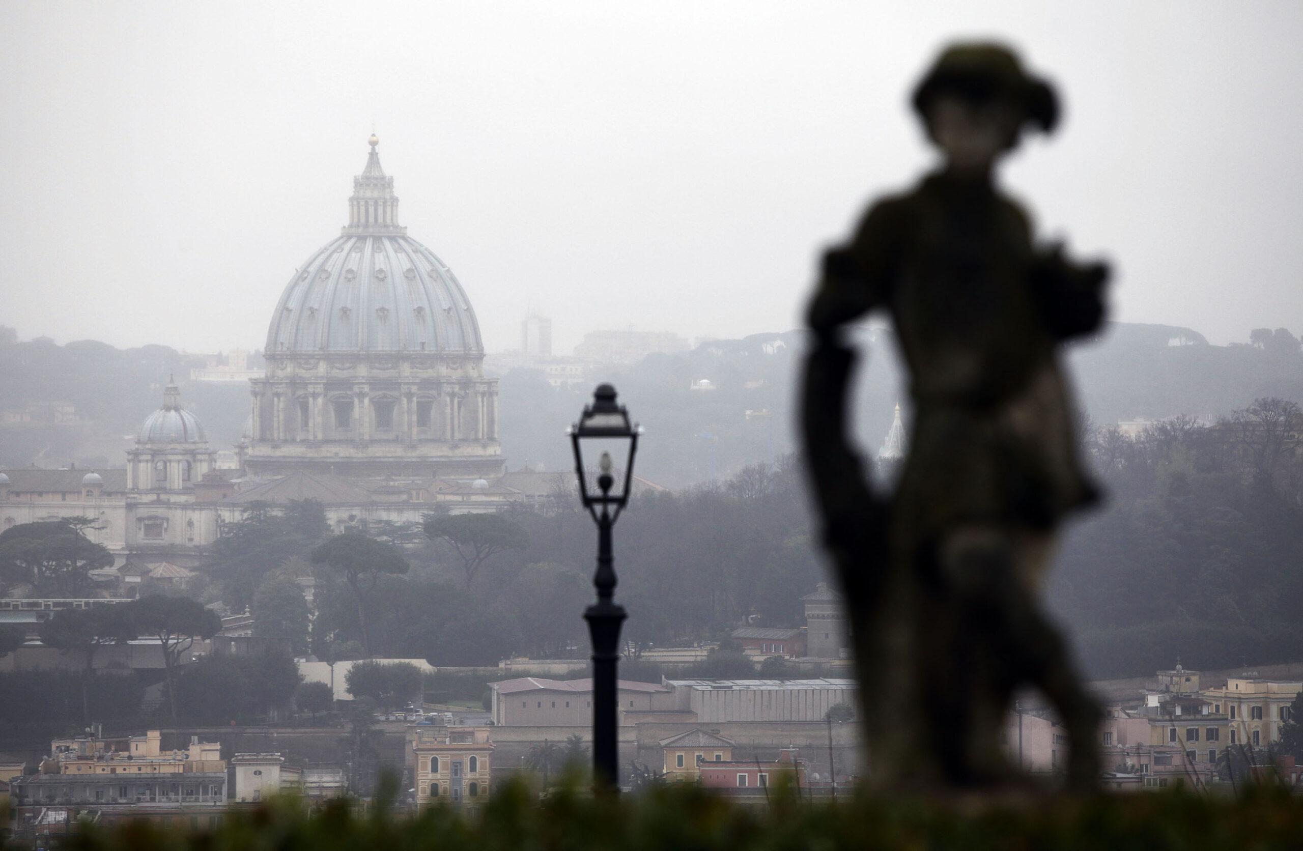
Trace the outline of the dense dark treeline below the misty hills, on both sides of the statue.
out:
[[[1303,657],[1293,611],[1303,598],[1300,435],[1298,407],[1278,399],[1217,424],[1178,417],[1135,438],[1117,429],[1091,434],[1085,451],[1109,497],[1068,526],[1050,599],[1093,676],[1140,675],[1178,657],[1205,667]],[[311,564],[313,549],[328,541],[323,524],[305,520],[311,512],[319,507],[251,516],[246,523],[265,530],[280,524],[321,534],[272,534],[294,541],[278,550],[280,566],[263,559],[266,570],[241,575],[218,564],[214,576],[238,576],[255,597],[281,583],[288,597],[287,573],[313,573],[313,648],[322,658],[491,666],[513,654],[586,654],[580,615],[592,596],[595,532],[564,494],[545,511],[457,532],[508,542],[473,571],[447,519],[370,529],[396,547],[401,567],[357,583]],[[823,579],[791,456],[719,485],[644,490],[615,542],[618,596],[629,610],[624,635],[636,646],[718,640],[744,623],[799,626],[800,597]],[[308,640],[305,614],[283,620],[297,624],[284,637]]]

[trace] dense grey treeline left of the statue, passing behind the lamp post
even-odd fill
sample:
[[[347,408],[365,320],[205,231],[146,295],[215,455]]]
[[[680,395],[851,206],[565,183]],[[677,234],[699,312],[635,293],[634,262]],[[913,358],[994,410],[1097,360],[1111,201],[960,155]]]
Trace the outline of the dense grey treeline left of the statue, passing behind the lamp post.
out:
[[[747,468],[721,486],[640,494],[616,536],[625,637],[665,645],[718,639],[748,618],[797,622],[800,596],[821,577],[804,504],[791,460]],[[371,530],[408,541],[410,570],[375,576],[361,606],[339,571],[317,570],[319,656],[361,656],[364,615],[373,656],[477,666],[586,653],[580,615],[593,594],[595,532],[577,503],[559,499],[545,512],[508,512],[468,530],[513,543],[473,573],[440,537],[442,523],[426,524],[433,540],[420,528]]]

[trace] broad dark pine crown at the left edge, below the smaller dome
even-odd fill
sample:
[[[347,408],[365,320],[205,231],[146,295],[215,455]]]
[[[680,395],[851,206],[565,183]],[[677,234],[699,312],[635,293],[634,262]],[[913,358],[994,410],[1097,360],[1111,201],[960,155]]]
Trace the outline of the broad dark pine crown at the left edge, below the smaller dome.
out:
[[[31,583],[44,597],[81,597],[89,592],[89,572],[113,566],[113,554],[94,543],[82,529],[89,517],[21,523],[0,532],[0,581]]]

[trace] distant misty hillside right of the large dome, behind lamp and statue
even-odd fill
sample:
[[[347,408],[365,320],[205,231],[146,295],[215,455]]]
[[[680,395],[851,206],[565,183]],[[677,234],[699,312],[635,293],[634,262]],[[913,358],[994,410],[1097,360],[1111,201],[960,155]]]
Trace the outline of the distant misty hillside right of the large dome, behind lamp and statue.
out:
[[[1296,340],[1290,351],[1290,339],[1286,332],[1274,345],[1224,347],[1191,328],[1110,323],[1095,340],[1074,347],[1070,364],[1080,403],[1098,425],[1179,413],[1214,420],[1259,396],[1303,400],[1303,354]],[[861,330],[859,341],[864,358],[856,430],[865,451],[876,454],[895,404],[906,405],[907,394],[890,331]],[[653,354],[603,375],[646,427],[640,474],[681,486],[724,478],[748,463],[791,451],[803,345],[799,331],[753,334],[683,354]],[[709,388],[698,384],[702,381]],[[537,422],[568,424],[584,401],[584,392],[554,390],[538,371],[503,375],[508,464],[567,467],[566,442]]]

